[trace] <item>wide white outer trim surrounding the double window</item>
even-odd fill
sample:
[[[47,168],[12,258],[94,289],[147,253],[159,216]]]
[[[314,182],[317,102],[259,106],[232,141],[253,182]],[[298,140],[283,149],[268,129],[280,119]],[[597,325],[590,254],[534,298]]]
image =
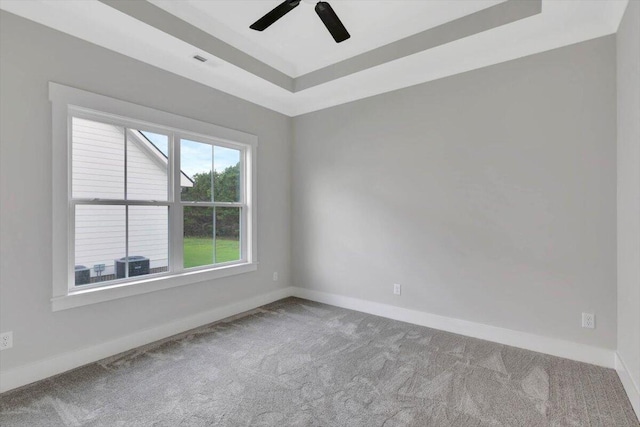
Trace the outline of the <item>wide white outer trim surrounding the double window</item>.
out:
[[[52,244],[53,244],[53,296],[51,298],[53,311],[80,307],[87,304],[140,295],[162,289],[184,286],[222,277],[242,274],[257,269],[257,211],[256,188],[257,166],[256,155],[258,138],[245,132],[227,129],[211,123],[182,117],[149,107],[120,101],[104,95],[63,86],[49,82],[49,100],[52,103]],[[248,184],[246,188],[246,254],[244,263],[203,267],[199,269],[183,270],[162,276],[146,277],[141,280],[126,283],[115,283],[89,289],[71,289],[69,287],[69,265],[73,257],[71,253],[70,226],[73,218],[70,210],[70,109],[83,109],[99,112],[102,116],[113,115],[126,117],[138,123],[149,124],[156,129],[167,128],[172,132],[187,137],[203,136],[216,143],[237,143],[248,146],[245,152],[244,167]],[[159,125],[161,124],[161,125]],[[175,144],[174,144],[175,145]],[[175,159],[174,161],[178,161]],[[177,193],[179,194],[179,193]],[[174,221],[181,218],[175,218]],[[182,239],[182,227],[170,227],[169,239]],[[173,260],[177,262],[181,260]]]

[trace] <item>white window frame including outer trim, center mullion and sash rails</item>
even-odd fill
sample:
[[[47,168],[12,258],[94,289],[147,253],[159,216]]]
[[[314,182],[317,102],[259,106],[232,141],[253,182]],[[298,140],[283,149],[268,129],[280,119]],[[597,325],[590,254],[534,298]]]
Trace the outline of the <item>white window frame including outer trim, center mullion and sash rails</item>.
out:
[[[258,138],[249,133],[224,128],[126,101],[49,82],[52,103],[52,310],[93,304],[161,289],[183,286],[257,269],[256,155]],[[79,117],[132,130],[165,134],[171,151],[167,165],[166,201],[126,201],[72,198],[72,120]],[[159,124],[162,123],[162,124]],[[126,132],[125,132],[126,135]],[[240,150],[242,160],[241,198],[235,202],[211,202],[211,205],[240,207],[241,259],[227,263],[185,269],[183,267],[183,209],[194,202],[180,199],[180,140],[208,143]],[[126,139],[125,139],[126,141]],[[125,164],[126,167],[126,164]],[[201,204],[202,202],[195,202]],[[74,286],[75,206],[143,205],[167,206],[168,271],[106,284]],[[204,202],[205,205],[210,205]],[[171,210],[173,209],[173,212]]]

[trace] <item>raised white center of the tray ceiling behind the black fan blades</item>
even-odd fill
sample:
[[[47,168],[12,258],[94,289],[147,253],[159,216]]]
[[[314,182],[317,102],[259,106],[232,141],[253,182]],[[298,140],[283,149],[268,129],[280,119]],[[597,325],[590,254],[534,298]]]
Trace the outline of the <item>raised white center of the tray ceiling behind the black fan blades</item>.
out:
[[[505,0],[330,0],[351,38],[337,44],[314,11],[300,5],[258,32],[249,25],[282,0],[150,0],[167,12],[291,77],[461,18]]]

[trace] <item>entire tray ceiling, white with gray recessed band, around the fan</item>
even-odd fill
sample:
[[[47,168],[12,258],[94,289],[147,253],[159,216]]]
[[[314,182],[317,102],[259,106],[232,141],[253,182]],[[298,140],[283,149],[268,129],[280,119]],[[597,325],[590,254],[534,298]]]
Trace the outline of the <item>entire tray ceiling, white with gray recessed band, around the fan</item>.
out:
[[[289,116],[617,31],[627,0],[330,0],[336,44],[280,0],[0,0],[0,8]],[[202,63],[193,59],[201,55]]]

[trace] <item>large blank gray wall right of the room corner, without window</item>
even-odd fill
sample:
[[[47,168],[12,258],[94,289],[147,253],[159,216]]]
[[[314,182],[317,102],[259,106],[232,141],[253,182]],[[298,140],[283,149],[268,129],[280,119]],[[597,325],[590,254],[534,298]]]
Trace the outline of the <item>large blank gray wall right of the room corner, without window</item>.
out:
[[[609,36],[295,118],[294,285],[616,348],[615,54]]]

